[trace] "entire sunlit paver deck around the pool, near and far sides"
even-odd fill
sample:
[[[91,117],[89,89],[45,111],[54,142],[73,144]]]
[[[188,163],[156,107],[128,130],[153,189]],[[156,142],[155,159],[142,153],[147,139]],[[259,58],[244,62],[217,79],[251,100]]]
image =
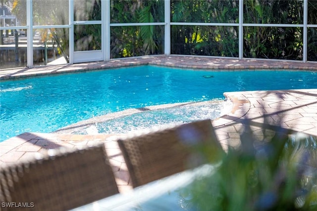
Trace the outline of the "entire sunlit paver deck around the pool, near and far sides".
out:
[[[39,75],[89,71],[133,65],[163,65],[188,69],[242,69],[254,70],[311,70],[317,71],[317,63],[290,61],[265,61],[251,59],[225,59],[194,56],[145,56],[129,59],[114,59],[108,62],[91,62],[73,65],[17,68],[0,71],[0,80],[16,80]],[[254,132],[256,144],[265,142],[264,136],[272,135],[262,128],[281,126],[294,132],[317,136],[317,89],[296,89],[276,91],[226,92],[226,98],[233,102],[231,112],[212,121],[219,142],[224,149],[241,145],[240,134],[247,124]],[[104,142],[110,164],[115,173],[119,191],[132,189],[130,178],[116,140],[124,134],[77,135],[63,133],[22,133],[0,142],[0,165],[34,159],[37,154],[46,155],[49,149],[74,148]]]

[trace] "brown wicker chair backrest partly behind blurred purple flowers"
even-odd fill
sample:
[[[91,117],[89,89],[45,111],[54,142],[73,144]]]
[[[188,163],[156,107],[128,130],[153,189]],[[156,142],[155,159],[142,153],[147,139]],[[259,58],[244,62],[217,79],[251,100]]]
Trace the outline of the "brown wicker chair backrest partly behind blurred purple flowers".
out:
[[[219,159],[224,151],[211,120],[118,140],[133,187]],[[202,155],[210,155],[209,158]]]

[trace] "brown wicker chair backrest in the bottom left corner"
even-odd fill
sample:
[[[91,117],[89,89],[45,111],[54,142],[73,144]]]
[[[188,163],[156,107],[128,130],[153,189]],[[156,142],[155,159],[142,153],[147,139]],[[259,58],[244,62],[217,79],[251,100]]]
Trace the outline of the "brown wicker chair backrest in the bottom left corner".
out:
[[[63,211],[118,193],[104,144],[53,154],[0,169],[3,210]]]

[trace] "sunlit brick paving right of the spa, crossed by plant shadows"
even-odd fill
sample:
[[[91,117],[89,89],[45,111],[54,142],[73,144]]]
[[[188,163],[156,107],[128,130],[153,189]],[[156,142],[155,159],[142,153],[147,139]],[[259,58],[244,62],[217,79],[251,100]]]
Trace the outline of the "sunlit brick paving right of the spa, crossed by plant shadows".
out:
[[[234,103],[231,113],[212,121],[222,146],[239,147],[245,125],[262,144],[272,130],[317,136],[317,89],[243,91],[224,93]],[[263,131],[263,128],[269,128]]]

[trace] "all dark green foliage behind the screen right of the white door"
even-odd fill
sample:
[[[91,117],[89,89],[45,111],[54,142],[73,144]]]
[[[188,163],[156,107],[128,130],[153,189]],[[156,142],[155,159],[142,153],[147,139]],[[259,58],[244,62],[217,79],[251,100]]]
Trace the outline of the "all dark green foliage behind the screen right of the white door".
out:
[[[171,0],[172,22],[238,23],[238,0]],[[309,0],[309,24],[317,23],[317,1]],[[163,1],[112,0],[111,23],[162,22]],[[244,0],[244,23],[303,24],[303,0]],[[146,14],[145,14],[146,13]],[[162,53],[163,29],[111,30],[111,58]],[[117,33],[118,31],[118,33]],[[121,34],[130,33],[130,34]],[[171,26],[171,53],[238,57],[238,27]],[[303,59],[303,28],[244,27],[244,57]],[[308,33],[308,58],[316,61],[316,33]],[[129,40],[132,39],[132,40]]]

